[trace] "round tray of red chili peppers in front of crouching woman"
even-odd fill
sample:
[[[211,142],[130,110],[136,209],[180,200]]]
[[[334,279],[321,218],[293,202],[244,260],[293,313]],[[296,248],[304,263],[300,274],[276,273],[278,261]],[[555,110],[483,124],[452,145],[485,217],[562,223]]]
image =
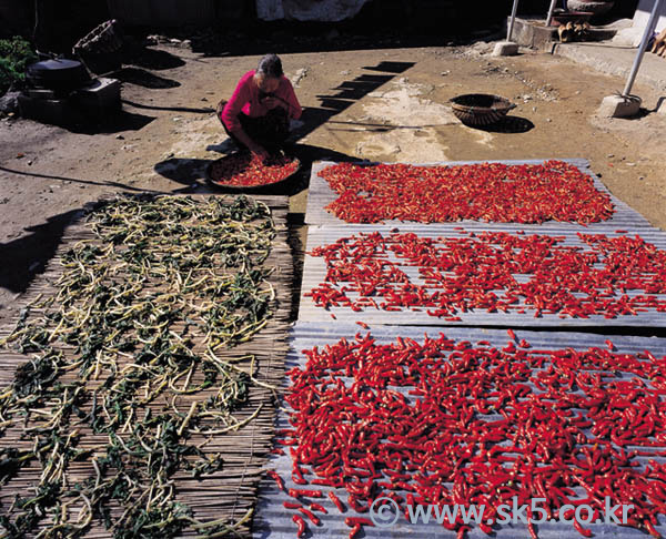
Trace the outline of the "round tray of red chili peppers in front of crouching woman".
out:
[[[301,169],[301,162],[287,155],[274,155],[263,163],[251,154],[234,153],[213,161],[206,176],[219,187],[246,191],[278,185],[292,177]]]

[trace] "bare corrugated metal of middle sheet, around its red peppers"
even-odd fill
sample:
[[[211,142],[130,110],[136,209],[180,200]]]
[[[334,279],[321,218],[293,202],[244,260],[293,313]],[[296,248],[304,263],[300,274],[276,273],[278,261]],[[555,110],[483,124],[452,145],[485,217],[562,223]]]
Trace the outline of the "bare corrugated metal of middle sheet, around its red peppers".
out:
[[[586,251],[589,247],[584,244],[577,236],[576,231],[572,231],[567,225],[559,223],[559,227],[554,226],[548,230],[529,230],[526,235],[548,234],[564,237],[562,245],[577,246]],[[464,230],[455,230],[455,227]],[[592,228],[592,227],[591,227]],[[586,230],[586,233],[604,233],[608,237],[625,235],[614,231],[597,231]],[[414,223],[400,224],[397,226],[389,225],[344,225],[344,226],[310,226],[307,233],[307,252],[320,245],[332,244],[339,238],[349,237],[360,233],[380,232],[387,236],[392,231],[401,233],[415,233],[422,237],[454,237],[461,238],[468,232],[517,232],[524,228],[516,227],[511,224],[493,224],[491,226],[475,223],[473,225],[464,225],[456,223],[437,225],[436,227],[428,225],[416,225]],[[628,234],[634,235],[634,234]],[[656,228],[640,228],[640,237],[659,250],[666,250],[666,233]],[[395,261],[394,261],[395,262]],[[400,270],[405,272],[413,281],[418,282],[418,272],[414,266],[405,266],[398,264]],[[525,314],[513,313],[487,313],[485,309],[471,313],[457,313],[455,316],[462,318],[461,322],[446,322],[444,318],[430,316],[424,308],[422,312],[403,309],[401,312],[386,312],[376,308],[364,308],[361,312],[353,312],[347,307],[331,307],[326,311],[322,307],[316,307],[311,297],[304,296],[313,287],[324,281],[326,267],[323,258],[313,257],[310,254],[305,255],[303,268],[303,283],[301,285],[301,303],[299,308],[299,321],[303,322],[332,322],[333,317],[341,322],[362,321],[375,324],[397,324],[397,325],[475,325],[475,326],[666,326],[666,313],[658,313],[656,309],[649,309],[646,313],[638,313],[636,316],[618,316],[617,318],[604,318],[603,315],[591,316],[589,318],[559,318],[556,314],[543,314],[542,317],[535,318],[534,311],[526,307]],[[629,295],[633,292],[629,292]],[[662,297],[662,296],[657,296]]]

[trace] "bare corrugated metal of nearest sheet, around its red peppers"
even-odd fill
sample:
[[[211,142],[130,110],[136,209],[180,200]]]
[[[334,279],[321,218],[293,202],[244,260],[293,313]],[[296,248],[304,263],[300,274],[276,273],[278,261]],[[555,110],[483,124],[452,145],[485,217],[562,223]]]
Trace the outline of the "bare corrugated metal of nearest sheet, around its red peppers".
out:
[[[312,348],[314,346],[322,347],[326,344],[333,344],[340,338],[352,338],[354,334],[360,330],[355,324],[321,324],[321,323],[299,323],[293,332],[291,339],[291,350],[286,359],[286,368],[295,366],[303,366],[305,364],[305,356],[301,350]],[[480,328],[462,328],[462,327],[447,327],[447,328],[433,328],[433,327],[394,327],[394,326],[377,326],[371,327],[372,335],[381,344],[392,343],[395,336],[400,335],[403,337],[412,337],[418,342],[423,342],[424,334],[431,337],[437,337],[443,332],[448,338],[456,340],[470,340],[476,343],[478,340],[487,340],[493,346],[505,346],[508,342],[508,336],[505,330],[498,329],[480,329]],[[608,338],[603,335],[593,335],[584,333],[536,333],[516,330],[516,338],[525,338],[535,348],[554,349],[554,348],[567,348],[572,347],[575,349],[587,349],[589,347],[605,347],[605,339]],[[612,340],[617,348],[618,353],[635,354],[645,349],[650,350],[655,356],[660,357],[666,355],[666,339],[655,337],[633,337],[633,336],[614,336]],[[287,417],[284,409],[281,409],[278,418],[278,428],[287,428]],[[642,464],[644,465],[645,459]],[[657,457],[656,460],[664,461],[663,457]],[[287,456],[281,456],[272,459],[269,465],[270,469],[275,469],[280,472],[282,478],[285,480],[287,488],[307,488],[294,485],[291,481],[291,459]],[[331,490],[330,488],[316,487],[325,492]],[[344,500],[346,497],[342,496],[343,489],[339,489],[336,494]],[[404,494],[404,492],[403,492]],[[254,539],[293,539],[295,537],[295,525],[291,518],[294,511],[285,509],[282,504],[283,501],[292,500],[283,491],[279,490],[275,482],[270,478],[264,478],[260,487],[260,501],[254,518],[253,537]],[[317,513],[322,523],[319,527],[309,523],[309,529],[312,535],[307,533],[306,538],[325,538],[325,539],[337,539],[346,538],[350,528],[345,526],[344,518],[349,516],[366,516],[359,515],[352,510],[347,510],[344,515],[341,515],[327,497],[321,500],[316,500],[329,510],[329,515]],[[346,506],[346,504],[345,504]],[[664,535],[666,533],[666,523],[664,519],[662,525],[657,529]],[[595,537],[605,538],[645,538],[647,537],[644,532],[640,532],[634,528],[619,527],[616,525],[605,523],[593,523],[585,526],[592,529]],[[579,538],[579,536],[571,523],[566,522],[546,522],[538,525],[537,527],[538,537],[541,539],[569,539]],[[523,539],[528,538],[529,532],[525,525],[513,525],[503,526],[502,528],[495,528],[494,531],[498,539]],[[405,535],[414,538],[432,538],[432,537],[445,537],[455,538],[455,532],[446,531],[436,523],[431,525],[412,525],[408,523],[403,517],[400,518],[398,522],[391,528],[370,528],[364,527],[365,536],[360,537],[369,538],[395,538],[402,539]],[[471,539],[487,538],[478,528],[474,527],[472,531],[466,536]]]

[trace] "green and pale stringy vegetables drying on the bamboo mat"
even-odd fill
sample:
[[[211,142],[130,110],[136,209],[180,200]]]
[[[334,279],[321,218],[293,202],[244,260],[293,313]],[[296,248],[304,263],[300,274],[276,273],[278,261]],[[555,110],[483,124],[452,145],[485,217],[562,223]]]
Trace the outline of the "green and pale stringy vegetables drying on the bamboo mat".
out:
[[[261,411],[248,399],[265,386],[253,362],[223,350],[274,309],[270,210],[246,197],[119,199],[89,220],[92,235],[62,258],[56,293],[4,342],[29,359],[0,394],[4,446],[23,440],[0,450],[0,485],[28,466],[41,476],[0,518],[0,538],[77,537],[93,520],[119,539],[233,535],[251,511],[200,522],[174,477],[223,469],[192,438]],[[104,443],[90,449],[83,430]]]

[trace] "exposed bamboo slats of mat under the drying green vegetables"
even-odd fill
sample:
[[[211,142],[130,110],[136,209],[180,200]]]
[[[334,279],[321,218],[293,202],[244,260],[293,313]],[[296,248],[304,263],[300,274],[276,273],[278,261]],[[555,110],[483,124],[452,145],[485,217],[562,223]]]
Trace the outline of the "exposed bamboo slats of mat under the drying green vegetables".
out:
[[[192,199],[204,199],[210,195],[190,195]],[[275,289],[274,311],[260,333],[255,334],[250,342],[243,343],[234,348],[218,350],[218,355],[226,359],[236,359],[253,355],[255,377],[271,386],[279,386],[284,375],[284,357],[287,350],[286,332],[290,323],[292,285],[293,285],[293,256],[287,244],[286,213],[289,201],[284,196],[255,196],[253,197],[265,203],[272,214],[275,237],[272,242],[271,253],[264,265],[274,267],[275,271],[269,277],[269,282]],[[92,206],[89,207],[89,210]],[[82,216],[83,212],[79,215]],[[62,242],[50,261],[47,270],[30,286],[29,291],[21,298],[21,306],[28,306],[36,301],[40,294],[53,292],[53,282],[58,279],[61,272],[60,260],[62,255],[70,250],[78,241],[92,238],[93,235],[85,227],[84,222],[78,220],[73,222],[63,235]],[[7,336],[14,327],[14,323],[7,328],[0,329],[0,338]],[[27,356],[18,353],[11,353],[0,349],[0,387],[6,388],[11,384],[14,370],[18,365],[26,363]],[[244,359],[235,365],[250,370],[251,362]],[[67,376],[71,376],[69,373]],[[75,376],[75,375],[74,375]],[[65,377],[63,377],[65,378]],[[214,391],[204,390],[194,396],[185,396],[180,408],[190,406],[193,400],[205,399]],[[164,403],[151,403],[153,411],[163,409]],[[261,406],[261,410],[255,418],[236,431],[230,431],[221,436],[215,436],[209,441],[202,450],[209,455],[221,454],[223,467],[221,470],[210,475],[203,475],[200,479],[193,479],[190,472],[178,471],[173,479],[176,490],[175,499],[186,504],[193,511],[193,517],[202,521],[218,519],[230,519],[238,521],[251,508],[255,506],[259,480],[264,468],[266,457],[272,447],[273,425],[275,415],[275,398],[271,389],[256,385],[251,385],[248,403],[242,409],[234,411],[234,418],[242,421]],[[103,448],[108,443],[108,436],[103,434],[93,434],[85,426],[80,429],[81,439],[78,448],[97,449],[97,456],[103,454]],[[27,440],[20,440],[20,428],[11,427],[6,435],[0,437],[0,446],[11,445],[17,448],[28,448],[31,446]],[[199,445],[206,438],[201,435],[192,435],[188,443]],[[94,469],[91,460],[81,462],[71,462],[68,478],[94,477]],[[38,462],[31,462],[30,467],[23,468],[17,477],[0,488],[0,513],[4,513],[12,504],[16,495],[26,496],[30,494],[30,486],[39,479],[41,467]],[[77,508],[70,509],[75,513]],[[123,508],[112,509],[112,518],[122,513]],[[39,528],[38,528],[39,530]],[[181,537],[193,537],[200,535],[192,528],[185,528]],[[239,535],[248,536],[250,533],[250,523],[245,523],[239,529]],[[100,520],[93,520],[88,532],[80,536],[84,538],[110,538],[112,532],[107,530]]]

